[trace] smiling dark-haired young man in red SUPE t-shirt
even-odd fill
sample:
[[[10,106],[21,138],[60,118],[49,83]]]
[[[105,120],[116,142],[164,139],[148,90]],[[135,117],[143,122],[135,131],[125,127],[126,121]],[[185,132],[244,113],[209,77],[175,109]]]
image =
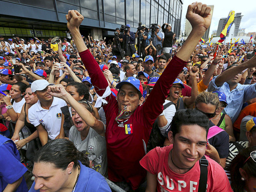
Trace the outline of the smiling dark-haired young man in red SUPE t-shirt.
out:
[[[199,160],[205,155],[209,120],[198,110],[176,112],[168,139],[173,145],[156,147],[140,163],[147,170],[147,192],[197,192]],[[208,157],[207,192],[232,192],[224,169]],[[207,173],[207,175],[206,175]],[[203,174],[203,173],[201,173]],[[205,185],[206,189],[206,185]],[[203,189],[202,191],[205,191]]]

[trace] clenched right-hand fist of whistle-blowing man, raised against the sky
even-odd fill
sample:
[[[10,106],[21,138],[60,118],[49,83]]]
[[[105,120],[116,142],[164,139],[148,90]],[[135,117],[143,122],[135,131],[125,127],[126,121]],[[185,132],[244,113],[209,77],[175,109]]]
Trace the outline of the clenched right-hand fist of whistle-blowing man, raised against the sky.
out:
[[[192,28],[206,31],[210,24],[212,15],[210,13],[211,8],[206,4],[200,2],[194,2],[188,7],[186,18],[189,20]]]

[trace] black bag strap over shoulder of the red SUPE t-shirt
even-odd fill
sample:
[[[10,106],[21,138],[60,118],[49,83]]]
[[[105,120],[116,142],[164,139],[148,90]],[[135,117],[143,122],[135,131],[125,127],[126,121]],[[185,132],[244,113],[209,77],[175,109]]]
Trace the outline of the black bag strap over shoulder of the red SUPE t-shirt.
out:
[[[207,187],[207,176],[208,176],[208,160],[203,156],[199,159],[200,165],[200,179],[198,185],[198,192],[205,192]]]

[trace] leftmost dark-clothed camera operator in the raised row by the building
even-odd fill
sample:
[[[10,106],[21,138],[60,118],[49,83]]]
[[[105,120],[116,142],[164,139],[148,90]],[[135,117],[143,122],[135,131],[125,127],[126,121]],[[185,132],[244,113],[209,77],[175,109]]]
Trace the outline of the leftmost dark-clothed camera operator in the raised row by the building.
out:
[[[124,52],[124,34],[120,33],[120,29],[115,29],[115,37],[113,38],[113,48],[112,53],[113,55],[116,55],[118,58],[123,57],[123,54],[121,52]],[[118,42],[119,41],[119,42]],[[120,45],[120,47],[119,47]]]

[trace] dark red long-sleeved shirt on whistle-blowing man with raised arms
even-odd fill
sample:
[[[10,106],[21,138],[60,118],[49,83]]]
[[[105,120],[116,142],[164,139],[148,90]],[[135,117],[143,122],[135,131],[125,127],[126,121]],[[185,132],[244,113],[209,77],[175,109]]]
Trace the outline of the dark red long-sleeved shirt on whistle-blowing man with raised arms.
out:
[[[99,64],[91,55],[89,49],[79,53],[91,82],[99,96],[102,96],[108,86]],[[171,65],[170,65],[171,64]],[[138,106],[134,113],[123,124],[118,124],[115,117],[118,105],[115,96],[107,96],[107,104],[103,105],[106,115],[106,146],[108,161],[108,179],[112,181],[126,181],[132,189],[137,189],[146,171],[140,166],[141,158],[146,154],[145,148],[155,119],[162,113],[163,104],[169,94],[169,89],[183,69],[186,62],[174,57],[166,67],[165,72],[156,82],[154,89],[142,106]],[[157,98],[157,99],[155,99]],[[132,129],[132,133],[127,130]]]

